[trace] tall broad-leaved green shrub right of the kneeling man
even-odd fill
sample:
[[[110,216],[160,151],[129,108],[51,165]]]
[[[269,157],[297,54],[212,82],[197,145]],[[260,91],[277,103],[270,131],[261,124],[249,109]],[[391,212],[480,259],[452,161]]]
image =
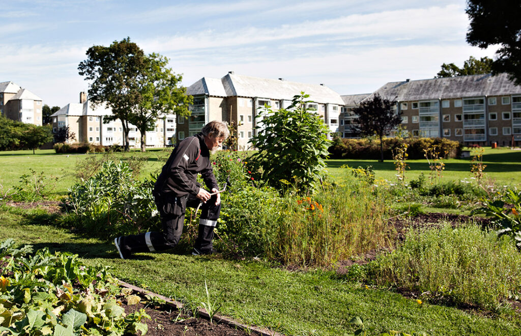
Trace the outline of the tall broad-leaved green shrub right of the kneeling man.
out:
[[[329,129],[323,118],[308,110],[308,97],[302,92],[287,109],[274,113],[265,107],[260,113],[261,126],[252,139],[258,152],[251,161],[260,167],[263,180],[276,188],[282,189],[284,180],[302,193],[312,192],[326,166]]]

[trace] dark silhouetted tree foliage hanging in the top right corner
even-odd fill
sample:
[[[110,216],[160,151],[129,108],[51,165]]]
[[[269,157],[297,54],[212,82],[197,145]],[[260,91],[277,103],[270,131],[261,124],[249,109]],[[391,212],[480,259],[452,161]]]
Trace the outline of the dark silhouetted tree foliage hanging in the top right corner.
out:
[[[480,48],[499,44],[492,73],[506,72],[521,85],[521,2],[517,0],[467,0],[470,28],[467,42]]]

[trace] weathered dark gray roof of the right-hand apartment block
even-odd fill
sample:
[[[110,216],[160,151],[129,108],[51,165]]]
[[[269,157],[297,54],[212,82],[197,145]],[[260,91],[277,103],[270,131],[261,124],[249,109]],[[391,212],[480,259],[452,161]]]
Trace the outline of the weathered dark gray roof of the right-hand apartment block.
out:
[[[507,74],[501,73],[390,82],[366,99],[371,99],[374,94],[407,101],[521,94],[521,87],[508,80]]]

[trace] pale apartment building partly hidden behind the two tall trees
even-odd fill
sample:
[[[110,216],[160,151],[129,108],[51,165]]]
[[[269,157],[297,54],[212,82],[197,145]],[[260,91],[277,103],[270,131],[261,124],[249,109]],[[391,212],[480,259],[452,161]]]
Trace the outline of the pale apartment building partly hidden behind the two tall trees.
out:
[[[52,127],[55,133],[58,128],[69,126],[69,132],[75,134],[73,142],[88,142],[96,145],[123,145],[123,126],[120,120],[104,122],[112,115],[110,108],[100,105],[94,107],[85,93],[80,93],[79,103],[69,103],[51,115]],[[172,137],[176,134],[175,115],[165,114],[157,119],[155,128],[146,132],[147,147],[165,147],[172,145]],[[129,124],[129,146],[141,146],[141,132]]]

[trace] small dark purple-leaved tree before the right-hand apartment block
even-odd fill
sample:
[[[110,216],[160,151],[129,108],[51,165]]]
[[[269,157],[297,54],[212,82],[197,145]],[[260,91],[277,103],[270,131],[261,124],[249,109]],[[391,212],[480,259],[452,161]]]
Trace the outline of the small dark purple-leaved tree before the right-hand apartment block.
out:
[[[377,135],[380,139],[380,162],[383,162],[383,136],[389,135],[402,122],[400,112],[396,112],[394,106],[396,101],[375,94],[373,99],[362,101],[353,109],[358,116],[354,121],[358,124],[357,131],[366,136]]]

